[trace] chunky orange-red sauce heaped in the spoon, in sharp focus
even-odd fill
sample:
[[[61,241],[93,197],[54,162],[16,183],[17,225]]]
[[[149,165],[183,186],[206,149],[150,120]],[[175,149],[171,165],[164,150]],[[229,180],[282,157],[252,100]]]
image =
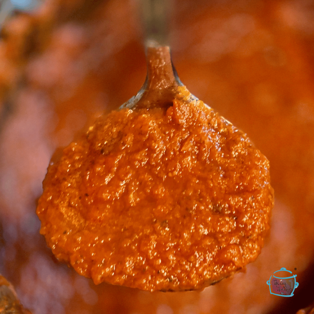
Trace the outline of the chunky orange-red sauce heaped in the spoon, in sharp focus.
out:
[[[160,51],[149,82],[165,79]],[[161,85],[100,117],[43,182],[41,233],[96,284],[203,288],[254,261],[269,228],[266,157],[184,86],[164,84],[164,97]]]

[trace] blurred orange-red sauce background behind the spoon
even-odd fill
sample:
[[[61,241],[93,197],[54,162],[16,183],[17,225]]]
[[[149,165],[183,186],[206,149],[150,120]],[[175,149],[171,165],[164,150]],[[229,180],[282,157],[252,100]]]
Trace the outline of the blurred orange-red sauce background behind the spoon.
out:
[[[296,313],[314,301],[314,1],[166,3],[0,2],[0,273],[34,314]],[[181,81],[271,165],[261,255],[203,291],[95,286],[53,257],[35,214],[55,149],[143,84],[152,6]],[[297,274],[291,298],[266,284],[282,267]]]

